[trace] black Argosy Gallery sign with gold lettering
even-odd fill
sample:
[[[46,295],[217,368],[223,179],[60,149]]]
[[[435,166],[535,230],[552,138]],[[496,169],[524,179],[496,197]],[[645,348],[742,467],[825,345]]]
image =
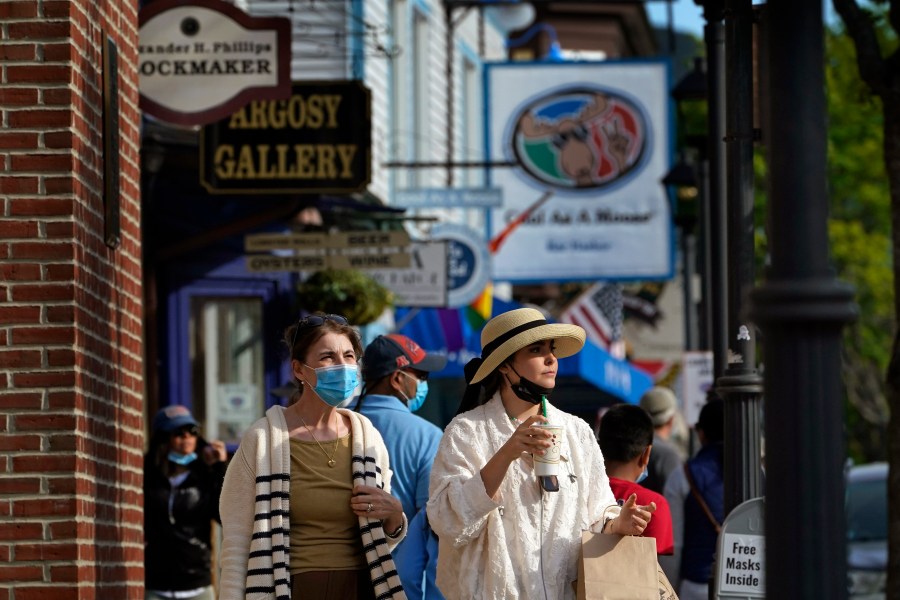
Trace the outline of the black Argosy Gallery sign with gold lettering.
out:
[[[371,95],[359,81],[295,82],[203,128],[200,183],[211,193],[350,193],[371,179]]]

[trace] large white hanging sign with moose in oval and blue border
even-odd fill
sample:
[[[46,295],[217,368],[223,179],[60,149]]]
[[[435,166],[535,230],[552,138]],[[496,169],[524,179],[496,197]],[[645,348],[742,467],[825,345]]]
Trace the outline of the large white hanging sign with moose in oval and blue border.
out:
[[[665,61],[485,65],[495,280],[672,277]],[[552,192],[534,206],[534,198]]]

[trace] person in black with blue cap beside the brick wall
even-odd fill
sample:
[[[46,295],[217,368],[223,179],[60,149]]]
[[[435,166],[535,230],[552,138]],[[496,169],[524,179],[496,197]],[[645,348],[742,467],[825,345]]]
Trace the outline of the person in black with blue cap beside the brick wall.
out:
[[[227,458],[224,443],[200,437],[184,406],[166,406],[153,417],[144,456],[146,600],[215,597],[210,534]]]

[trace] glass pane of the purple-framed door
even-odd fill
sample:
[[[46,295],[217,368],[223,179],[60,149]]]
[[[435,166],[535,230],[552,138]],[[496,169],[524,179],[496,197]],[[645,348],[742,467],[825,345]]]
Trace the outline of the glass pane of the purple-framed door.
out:
[[[238,443],[263,415],[262,315],[261,298],[192,300],[194,414],[210,439]]]

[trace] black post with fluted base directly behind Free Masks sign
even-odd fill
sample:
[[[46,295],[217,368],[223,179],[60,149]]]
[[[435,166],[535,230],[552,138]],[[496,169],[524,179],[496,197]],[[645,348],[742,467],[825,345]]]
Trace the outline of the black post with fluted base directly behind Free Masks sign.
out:
[[[728,362],[715,387],[725,400],[726,514],[762,495],[762,377],[756,370],[756,327],[742,314],[755,271],[752,10],[751,0],[725,0]]]

